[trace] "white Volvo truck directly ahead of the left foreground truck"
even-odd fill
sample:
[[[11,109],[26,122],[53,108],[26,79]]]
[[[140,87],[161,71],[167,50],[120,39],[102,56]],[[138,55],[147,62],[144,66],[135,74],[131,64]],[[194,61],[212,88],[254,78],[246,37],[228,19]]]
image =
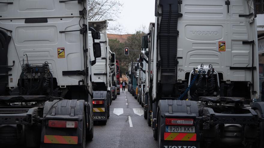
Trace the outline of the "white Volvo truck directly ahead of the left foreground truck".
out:
[[[92,58],[91,63],[95,63],[91,69],[91,81],[94,91],[93,97],[93,112],[94,112],[94,121],[100,121],[103,124],[107,123],[107,119],[110,116],[110,101],[111,101],[111,78],[110,74],[110,60],[107,38],[107,20],[104,21],[89,21],[89,27],[93,27],[95,30],[100,32],[100,39],[95,39],[96,43],[101,45],[101,57]],[[89,32],[89,48],[93,49],[92,45],[92,32]],[[93,55],[91,54],[91,57]]]

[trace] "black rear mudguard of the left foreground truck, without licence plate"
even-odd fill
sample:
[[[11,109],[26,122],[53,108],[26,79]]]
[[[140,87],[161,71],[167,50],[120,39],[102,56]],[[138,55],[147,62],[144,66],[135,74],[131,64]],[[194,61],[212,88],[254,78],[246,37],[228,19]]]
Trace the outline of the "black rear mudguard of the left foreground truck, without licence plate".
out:
[[[85,122],[84,100],[46,101],[41,132],[41,148],[81,147]],[[52,128],[49,120],[78,121],[77,128]]]

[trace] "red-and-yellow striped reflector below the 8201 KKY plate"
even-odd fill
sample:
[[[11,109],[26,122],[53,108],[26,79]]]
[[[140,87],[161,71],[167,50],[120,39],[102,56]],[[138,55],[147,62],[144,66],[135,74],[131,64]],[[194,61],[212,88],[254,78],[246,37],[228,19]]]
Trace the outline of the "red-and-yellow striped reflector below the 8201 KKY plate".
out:
[[[165,132],[164,140],[173,141],[196,141],[196,133]]]

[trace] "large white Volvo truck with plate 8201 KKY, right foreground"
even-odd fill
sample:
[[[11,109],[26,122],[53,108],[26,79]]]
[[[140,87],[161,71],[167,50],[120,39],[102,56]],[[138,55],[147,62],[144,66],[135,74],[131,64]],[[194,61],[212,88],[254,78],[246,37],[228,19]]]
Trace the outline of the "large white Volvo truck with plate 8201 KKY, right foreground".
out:
[[[264,147],[254,7],[253,0],[155,1],[149,112],[158,147]]]

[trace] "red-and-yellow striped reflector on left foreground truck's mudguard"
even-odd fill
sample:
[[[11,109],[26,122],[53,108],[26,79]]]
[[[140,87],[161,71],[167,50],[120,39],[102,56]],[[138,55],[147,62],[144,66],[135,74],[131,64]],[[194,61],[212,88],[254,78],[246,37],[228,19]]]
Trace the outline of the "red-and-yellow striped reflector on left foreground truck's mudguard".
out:
[[[78,136],[44,135],[46,144],[78,144]]]

